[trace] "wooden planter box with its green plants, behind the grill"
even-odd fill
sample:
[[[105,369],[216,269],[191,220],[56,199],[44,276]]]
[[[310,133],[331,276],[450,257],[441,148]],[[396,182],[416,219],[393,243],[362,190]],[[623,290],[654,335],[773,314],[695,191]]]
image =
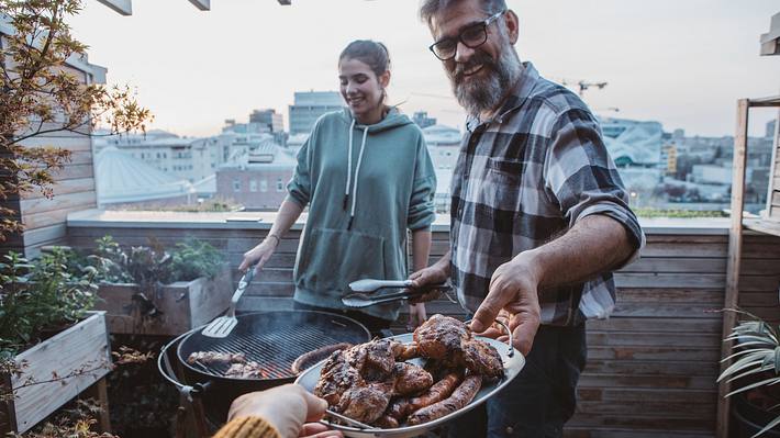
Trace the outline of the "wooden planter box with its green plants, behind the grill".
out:
[[[105,236],[96,255],[108,260],[96,308],[107,312],[111,333],[179,335],[230,305],[231,269],[208,243],[188,239],[170,251],[154,242],[124,249]]]

